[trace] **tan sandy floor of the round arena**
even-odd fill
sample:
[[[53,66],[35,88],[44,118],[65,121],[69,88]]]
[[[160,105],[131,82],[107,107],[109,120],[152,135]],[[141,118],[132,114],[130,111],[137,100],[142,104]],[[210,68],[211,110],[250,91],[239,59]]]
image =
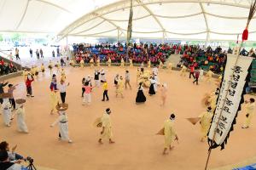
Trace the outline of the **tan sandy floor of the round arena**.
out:
[[[177,71],[167,73],[160,71],[160,82],[167,82],[168,97],[166,106],[160,106],[160,94],[148,96],[145,105],[136,105],[136,68],[131,71],[132,90],[124,92],[125,98],[115,98],[113,77],[116,73],[125,76],[125,69],[107,68],[110,101],[102,102],[102,87],[95,88],[92,103],[82,105],[81,79],[85,75],[93,75],[90,68],[66,68],[67,82],[67,111],[69,118],[69,133],[73,144],[57,139],[58,127],[49,125],[55,121],[57,115],[49,115],[49,72],[39,76],[32,83],[35,97],[26,102],[26,124],[30,133],[18,133],[16,117],[11,127],[3,126],[0,119],[0,140],[7,140],[9,144],[18,144],[17,152],[24,156],[32,156],[35,165],[61,170],[154,170],[154,169],[203,169],[207,160],[207,143],[200,141],[199,124],[193,126],[185,118],[198,116],[205,109],[201,106],[203,95],[215,89],[214,83],[201,82],[199,86],[192,83],[192,79],[180,77]],[[58,77],[60,78],[60,77]],[[15,97],[26,94],[23,77],[10,79],[11,83],[20,83],[15,90]],[[100,129],[92,127],[96,117],[102,116],[105,109],[112,109],[113,139],[115,144],[98,144]],[[169,155],[163,156],[163,136],[155,135],[163,122],[174,112],[177,116],[176,130],[179,144]],[[235,132],[232,132],[226,149],[212,150],[209,167],[221,167],[243,161],[256,154],[256,118],[254,126],[241,129],[245,113],[241,111],[237,118]]]

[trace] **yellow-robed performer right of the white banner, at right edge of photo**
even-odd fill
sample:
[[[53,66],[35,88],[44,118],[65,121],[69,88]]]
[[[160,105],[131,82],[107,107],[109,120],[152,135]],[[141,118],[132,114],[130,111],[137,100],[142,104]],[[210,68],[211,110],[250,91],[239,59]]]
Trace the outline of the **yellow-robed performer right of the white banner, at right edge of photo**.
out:
[[[252,121],[252,118],[253,118],[253,111],[254,111],[254,108],[255,108],[255,99],[251,98],[249,101],[246,101],[246,113],[247,113],[247,117],[246,117],[246,121],[244,123],[244,125],[242,126],[242,128],[248,128],[250,127],[251,125],[251,121]]]

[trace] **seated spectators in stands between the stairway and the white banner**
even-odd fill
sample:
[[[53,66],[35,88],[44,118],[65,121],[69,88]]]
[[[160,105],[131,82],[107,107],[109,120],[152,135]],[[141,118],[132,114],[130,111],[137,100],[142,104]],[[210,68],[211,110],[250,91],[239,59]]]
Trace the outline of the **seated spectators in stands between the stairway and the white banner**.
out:
[[[177,66],[185,65],[189,67],[194,65],[195,68],[201,67],[204,70],[211,70],[215,74],[221,74],[224,71],[226,59],[227,53],[220,47],[214,50],[208,47],[204,50],[195,46],[184,50]]]

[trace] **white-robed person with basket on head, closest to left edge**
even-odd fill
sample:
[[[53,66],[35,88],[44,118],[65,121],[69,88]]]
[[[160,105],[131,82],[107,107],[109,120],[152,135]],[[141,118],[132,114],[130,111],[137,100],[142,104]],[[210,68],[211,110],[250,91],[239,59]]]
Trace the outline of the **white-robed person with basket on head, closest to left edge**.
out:
[[[9,127],[11,122],[11,107],[12,105],[9,103],[10,94],[4,93],[0,96],[3,98],[2,110],[3,110],[3,122],[5,126]]]

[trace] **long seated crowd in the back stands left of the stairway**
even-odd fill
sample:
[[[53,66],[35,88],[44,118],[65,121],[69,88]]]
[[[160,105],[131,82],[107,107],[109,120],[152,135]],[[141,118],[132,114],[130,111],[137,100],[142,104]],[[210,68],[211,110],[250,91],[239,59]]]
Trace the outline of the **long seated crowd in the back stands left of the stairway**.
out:
[[[177,48],[177,45],[175,45]],[[90,44],[80,43],[73,44],[73,51],[75,54],[76,62],[79,63],[81,59],[84,59],[84,63],[89,63],[90,59],[94,61],[100,58],[101,62],[106,62],[110,58],[113,63],[120,63],[123,58],[126,62],[132,59],[133,63],[147,63],[148,60],[152,64],[164,63],[166,59],[175,53],[173,45],[167,43],[155,44],[155,43],[134,43],[128,47],[128,58],[126,43],[109,44],[96,44],[94,46]]]

